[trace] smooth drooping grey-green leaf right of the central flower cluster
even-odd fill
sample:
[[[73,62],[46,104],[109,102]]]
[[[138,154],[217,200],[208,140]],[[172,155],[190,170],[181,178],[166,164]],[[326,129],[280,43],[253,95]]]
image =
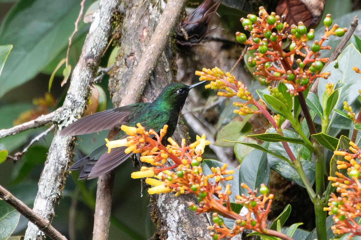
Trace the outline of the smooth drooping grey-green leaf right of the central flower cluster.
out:
[[[269,143],[265,142],[262,145],[267,147]],[[239,186],[241,183],[245,183],[251,190],[256,190],[260,189],[262,183],[268,186],[269,180],[270,168],[266,153],[258,149],[253,150],[243,159],[239,167]],[[240,187],[239,193],[248,196],[248,191],[242,187]]]

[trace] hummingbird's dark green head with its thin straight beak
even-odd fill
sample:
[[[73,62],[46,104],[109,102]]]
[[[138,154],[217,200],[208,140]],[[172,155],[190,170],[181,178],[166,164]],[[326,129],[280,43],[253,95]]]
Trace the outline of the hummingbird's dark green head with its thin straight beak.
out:
[[[205,81],[203,81],[205,82]],[[191,86],[184,85],[183,83],[172,82],[169,83],[158,96],[156,101],[165,104],[166,108],[174,108],[180,111],[186,102],[188,92],[193,87],[200,85],[203,82],[193,84]]]

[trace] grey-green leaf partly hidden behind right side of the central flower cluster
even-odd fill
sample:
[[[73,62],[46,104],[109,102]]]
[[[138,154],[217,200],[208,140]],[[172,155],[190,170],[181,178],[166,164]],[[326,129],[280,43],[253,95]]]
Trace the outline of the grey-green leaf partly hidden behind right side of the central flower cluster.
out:
[[[202,162],[202,169],[203,169],[203,174],[204,175],[209,175],[212,174],[212,170],[211,168],[221,168],[224,165],[224,163],[216,161],[216,160],[212,160],[212,159],[205,159]],[[230,201],[231,202],[235,202],[236,200],[236,195],[239,194],[239,180],[238,180],[238,175],[239,175],[239,171],[237,169],[235,169],[234,167],[231,166],[227,166],[226,168],[227,170],[234,170],[234,174],[233,174],[233,179],[230,181],[223,181],[219,183],[219,186],[222,186],[222,191],[225,190],[225,186],[226,184],[230,184],[231,185],[231,195],[229,196]]]

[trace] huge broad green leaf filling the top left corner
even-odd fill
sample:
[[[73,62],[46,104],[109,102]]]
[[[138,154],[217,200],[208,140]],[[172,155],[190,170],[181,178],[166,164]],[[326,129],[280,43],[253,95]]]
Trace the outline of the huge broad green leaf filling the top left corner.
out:
[[[68,45],[80,2],[21,0],[10,10],[1,25],[0,45],[14,48],[0,77],[0,97],[33,78]],[[86,1],[86,8],[90,4]],[[81,31],[85,26],[80,21],[78,28]]]

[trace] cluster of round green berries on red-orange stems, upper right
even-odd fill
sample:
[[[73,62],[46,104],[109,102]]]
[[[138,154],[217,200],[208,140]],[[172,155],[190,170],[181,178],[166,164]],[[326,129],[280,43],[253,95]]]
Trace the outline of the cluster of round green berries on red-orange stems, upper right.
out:
[[[282,23],[281,19],[274,12],[268,14],[263,7],[260,7],[258,17],[248,14],[247,18],[240,21],[244,30],[249,31],[251,36],[247,39],[244,33],[236,32],[236,40],[245,45],[250,45],[247,50],[256,50],[254,56],[249,56],[247,63],[249,67],[256,68],[253,73],[260,76],[262,84],[271,81],[282,81],[292,85],[292,95],[304,91],[313,81],[318,78],[327,79],[330,72],[322,73],[323,63],[328,58],[320,58],[321,49],[331,49],[330,46],[322,46],[323,42],[331,35],[343,36],[347,28],[339,28],[337,24],[329,29],[332,24],[331,15],[327,14],[323,23],[326,26],[325,34],[321,40],[315,40],[310,46],[307,41],[314,38],[314,30],[307,31],[303,22],[298,26],[292,25],[290,32],[287,32],[288,24]],[[282,49],[283,40],[290,42],[289,51]],[[292,68],[296,59],[297,66]]]

